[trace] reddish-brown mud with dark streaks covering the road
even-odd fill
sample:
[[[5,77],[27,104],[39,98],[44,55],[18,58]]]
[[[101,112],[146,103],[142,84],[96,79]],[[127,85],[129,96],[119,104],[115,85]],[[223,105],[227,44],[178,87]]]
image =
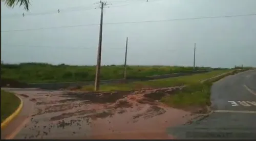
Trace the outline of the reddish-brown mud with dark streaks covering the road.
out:
[[[34,103],[16,139],[167,139],[166,128],[194,117],[158,102],[180,87],[130,92],[11,90]]]

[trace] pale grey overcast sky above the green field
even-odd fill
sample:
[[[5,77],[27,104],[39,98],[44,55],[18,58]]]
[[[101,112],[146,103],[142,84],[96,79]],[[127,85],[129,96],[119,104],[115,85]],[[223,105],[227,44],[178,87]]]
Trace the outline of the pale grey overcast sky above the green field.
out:
[[[96,65],[98,1],[30,2],[29,12],[1,2],[4,63]],[[127,65],[193,66],[196,43],[196,66],[256,67],[255,0],[106,2],[101,65],[124,64],[128,37]]]

